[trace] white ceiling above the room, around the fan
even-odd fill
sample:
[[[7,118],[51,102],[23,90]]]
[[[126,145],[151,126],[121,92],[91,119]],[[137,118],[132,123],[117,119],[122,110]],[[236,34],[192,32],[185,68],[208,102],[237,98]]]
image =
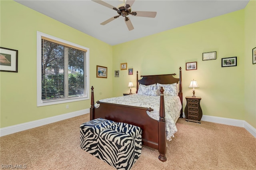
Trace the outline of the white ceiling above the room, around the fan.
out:
[[[104,26],[100,25],[118,14],[115,10],[91,0],[15,1],[110,45],[241,10],[249,2],[249,0],[136,0],[132,5],[132,11],[155,11],[157,14],[155,18],[129,15],[134,26],[134,30],[129,31],[122,16]],[[122,4],[121,1],[104,0],[116,7]]]

